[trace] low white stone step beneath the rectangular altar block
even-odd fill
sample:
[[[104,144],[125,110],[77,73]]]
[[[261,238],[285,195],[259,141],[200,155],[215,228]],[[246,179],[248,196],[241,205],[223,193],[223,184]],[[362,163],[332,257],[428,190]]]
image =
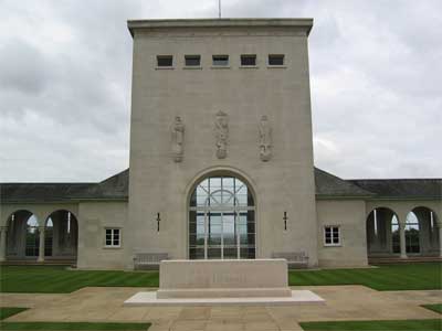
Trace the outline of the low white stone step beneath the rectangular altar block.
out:
[[[124,306],[296,306],[325,305],[325,300],[309,290],[292,290],[290,297],[242,297],[242,298],[173,298],[158,299],[156,291],[138,292]]]

